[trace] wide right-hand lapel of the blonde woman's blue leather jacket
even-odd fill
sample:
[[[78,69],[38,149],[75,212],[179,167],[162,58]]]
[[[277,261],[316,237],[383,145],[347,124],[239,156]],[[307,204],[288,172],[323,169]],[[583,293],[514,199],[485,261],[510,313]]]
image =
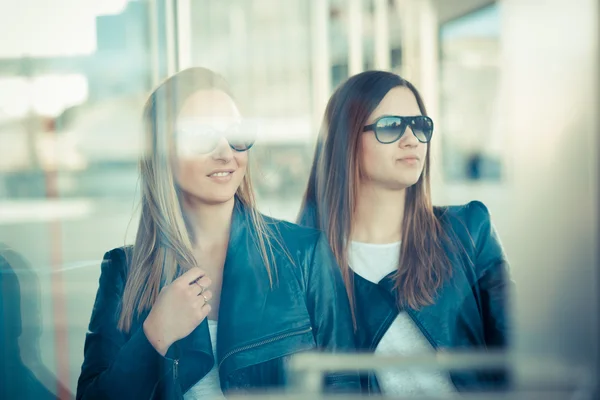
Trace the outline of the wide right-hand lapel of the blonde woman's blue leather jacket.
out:
[[[250,212],[238,202],[219,305],[217,365],[222,387],[235,370],[314,347],[300,284],[290,268],[276,270],[276,264],[289,261],[273,247],[271,288],[256,235]]]

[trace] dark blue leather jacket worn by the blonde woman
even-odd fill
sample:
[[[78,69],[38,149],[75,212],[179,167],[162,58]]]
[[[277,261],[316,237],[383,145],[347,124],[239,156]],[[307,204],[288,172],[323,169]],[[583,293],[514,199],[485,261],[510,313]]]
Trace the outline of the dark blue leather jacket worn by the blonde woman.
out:
[[[271,288],[248,212],[236,203],[223,272],[217,354],[206,320],[165,357],[144,335],[147,313],[134,321],[129,334],[119,331],[126,252],[131,248],[106,253],[77,399],[182,399],[214,365],[225,394],[278,387],[286,383],[285,362],[295,353],[355,349],[345,287],[326,239],[312,229],[266,220],[293,263],[273,245],[277,280]],[[360,390],[358,374],[332,374],[326,385],[336,391]]]

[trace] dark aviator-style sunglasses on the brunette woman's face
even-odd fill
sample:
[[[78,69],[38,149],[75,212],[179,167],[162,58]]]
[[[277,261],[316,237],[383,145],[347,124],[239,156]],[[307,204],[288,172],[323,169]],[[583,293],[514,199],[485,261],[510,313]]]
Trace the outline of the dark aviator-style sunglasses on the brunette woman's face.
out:
[[[414,117],[385,116],[364,127],[363,132],[375,132],[375,138],[380,143],[389,144],[399,140],[406,128],[410,130],[421,143],[428,143],[433,135],[433,121],[424,115]]]

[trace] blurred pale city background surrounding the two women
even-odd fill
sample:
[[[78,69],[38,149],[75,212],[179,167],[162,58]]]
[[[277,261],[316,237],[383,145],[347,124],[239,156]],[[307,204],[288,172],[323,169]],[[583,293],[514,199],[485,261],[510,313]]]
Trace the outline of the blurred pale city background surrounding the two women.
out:
[[[512,351],[596,373],[598,22],[594,0],[3,2],[0,242],[37,314],[23,363],[74,393],[99,261],[135,237],[156,84],[224,75],[261,121],[259,205],[293,220],[328,97],[376,68],[415,83],[436,121],[435,202],[492,212],[519,287]]]

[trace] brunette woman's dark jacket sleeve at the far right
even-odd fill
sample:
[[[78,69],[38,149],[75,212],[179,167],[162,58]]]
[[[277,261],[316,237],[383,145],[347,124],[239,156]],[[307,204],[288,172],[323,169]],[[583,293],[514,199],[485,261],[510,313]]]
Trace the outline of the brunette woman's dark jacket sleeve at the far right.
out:
[[[475,268],[485,341],[490,348],[503,348],[509,338],[509,299],[513,294],[513,282],[506,255],[488,209],[477,201],[471,202],[469,208],[471,221],[475,221],[477,229],[473,235]]]

